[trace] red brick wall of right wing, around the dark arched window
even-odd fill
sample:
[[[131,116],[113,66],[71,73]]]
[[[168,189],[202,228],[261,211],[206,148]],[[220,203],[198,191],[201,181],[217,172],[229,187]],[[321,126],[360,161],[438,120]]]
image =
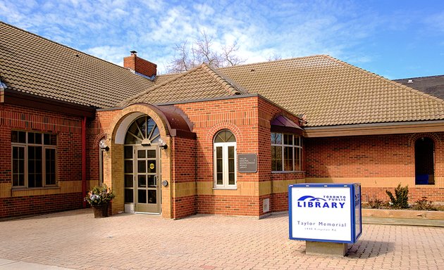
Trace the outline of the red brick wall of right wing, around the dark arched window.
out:
[[[375,177],[411,179],[414,183],[414,141],[428,136],[435,143],[435,185],[409,184],[409,203],[422,196],[444,202],[443,133],[345,136],[305,140],[307,177]],[[438,178],[438,179],[437,179]],[[408,183],[401,183],[402,186]],[[362,186],[362,200],[388,200],[386,189],[393,186]]]

